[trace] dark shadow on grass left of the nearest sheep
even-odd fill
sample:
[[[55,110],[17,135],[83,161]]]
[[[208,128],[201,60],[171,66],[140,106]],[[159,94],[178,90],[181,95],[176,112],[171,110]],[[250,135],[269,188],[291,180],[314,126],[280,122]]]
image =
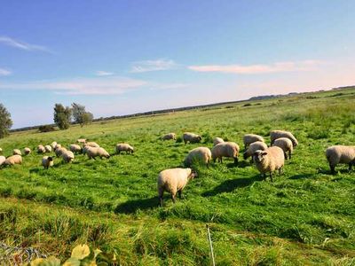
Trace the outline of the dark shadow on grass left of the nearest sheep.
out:
[[[114,208],[115,214],[133,214],[140,210],[158,207],[158,197],[143,200],[127,200]]]

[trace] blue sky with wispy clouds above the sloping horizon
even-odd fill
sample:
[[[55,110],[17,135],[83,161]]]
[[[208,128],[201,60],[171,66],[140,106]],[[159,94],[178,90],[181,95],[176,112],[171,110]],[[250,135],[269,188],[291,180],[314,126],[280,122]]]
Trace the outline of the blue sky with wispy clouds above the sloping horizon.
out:
[[[0,0],[14,129],[354,84],[352,0]]]

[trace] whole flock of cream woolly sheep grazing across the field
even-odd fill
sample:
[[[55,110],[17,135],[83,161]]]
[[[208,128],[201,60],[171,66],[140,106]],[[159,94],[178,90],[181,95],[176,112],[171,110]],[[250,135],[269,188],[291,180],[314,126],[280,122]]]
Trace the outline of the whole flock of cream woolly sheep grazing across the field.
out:
[[[284,130],[272,130],[270,133],[271,146],[268,147],[264,138],[255,134],[247,134],[243,137],[244,160],[251,157],[252,162],[256,165],[257,170],[266,179],[266,174],[269,174],[272,181],[272,173],[279,170],[281,174],[282,168],[285,164],[285,159],[291,159],[294,147],[298,145],[296,137],[289,131]],[[162,137],[162,140],[176,140],[175,133],[169,133]],[[187,143],[200,143],[201,136],[185,132],[183,135],[185,145]],[[106,150],[100,147],[95,142],[87,142],[86,139],[78,139],[78,144],[72,144],[68,146],[68,149],[57,142],[51,143],[51,145],[38,145],[36,148],[37,153],[51,153],[52,151],[57,157],[61,157],[66,163],[75,159],[75,154],[83,153],[87,154],[89,159],[95,159],[96,157],[109,158],[110,154]],[[120,154],[122,152],[134,153],[134,148],[126,143],[117,144],[115,146],[115,153]],[[0,148],[0,153],[3,150]],[[13,150],[13,155],[5,158],[0,155],[0,167],[12,166],[22,163],[22,153],[28,155],[31,153],[31,149],[26,147],[23,152],[19,149]],[[181,198],[181,194],[185,185],[190,179],[197,176],[197,173],[193,170],[194,163],[203,163],[209,167],[209,162],[213,160],[216,162],[222,162],[223,157],[233,158],[234,163],[238,163],[238,156],[240,154],[240,147],[234,142],[225,142],[220,137],[213,139],[213,147],[210,150],[208,147],[197,147],[191,150],[185,157],[184,163],[186,168],[169,168],[159,173],[158,176],[158,196],[159,202],[162,206],[162,196],[164,192],[170,192],[171,199],[175,202],[176,195]],[[335,166],[338,163],[346,163],[351,170],[352,165],[355,165],[355,146],[335,145],[327,148],[326,151],[327,161],[331,169],[332,174],[335,173]],[[52,156],[43,156],[42,166],[43,168],[50,168],[53,166]]]

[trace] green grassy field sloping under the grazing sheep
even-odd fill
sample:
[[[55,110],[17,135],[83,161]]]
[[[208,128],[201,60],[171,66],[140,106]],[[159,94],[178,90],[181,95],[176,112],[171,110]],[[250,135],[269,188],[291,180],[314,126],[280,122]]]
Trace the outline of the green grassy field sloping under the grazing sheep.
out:
[[[217,265],[355,265],[355,174],[330,175],[324,151],[355,144],[355,89],[214,106],[186,112],[25,131],[0,140],[12,149],[88,137],[114,153],[128,142],[136,152],[108,160],[77,155],[71,164],[42,155],[0,169],[0,239],[65,258],[82,243],[115,251],[122,265],[209,265],[209,223]],[[288,129],[299,141],[284,175],[263,181],[249,160],[199,167],[174,205],[158,207],[156,177],[182,166],[189,150],[213,137],[242,145],[242,136],[268,137]],[[163,142],[168,132],[201,134],[202,143]],[[243,150],[243,149],[242,149]],[[0,251],[1,252],[1,251]]]

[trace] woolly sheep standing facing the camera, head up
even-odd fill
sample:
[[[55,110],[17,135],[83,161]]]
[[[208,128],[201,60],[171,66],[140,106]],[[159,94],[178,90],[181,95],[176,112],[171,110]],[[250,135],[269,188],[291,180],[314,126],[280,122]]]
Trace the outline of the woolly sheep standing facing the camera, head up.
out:
[[[282,149],[278,146],[269,147],[266,150],[257,150],[253,154],[253,160],[256,164],[256,168],[259,170],[264,180],[266,180],[266,173],[270,173],[270,179],[272,180],[272,172],[279,170],[281,175],[281,169],[285,163],[285,156]]]

